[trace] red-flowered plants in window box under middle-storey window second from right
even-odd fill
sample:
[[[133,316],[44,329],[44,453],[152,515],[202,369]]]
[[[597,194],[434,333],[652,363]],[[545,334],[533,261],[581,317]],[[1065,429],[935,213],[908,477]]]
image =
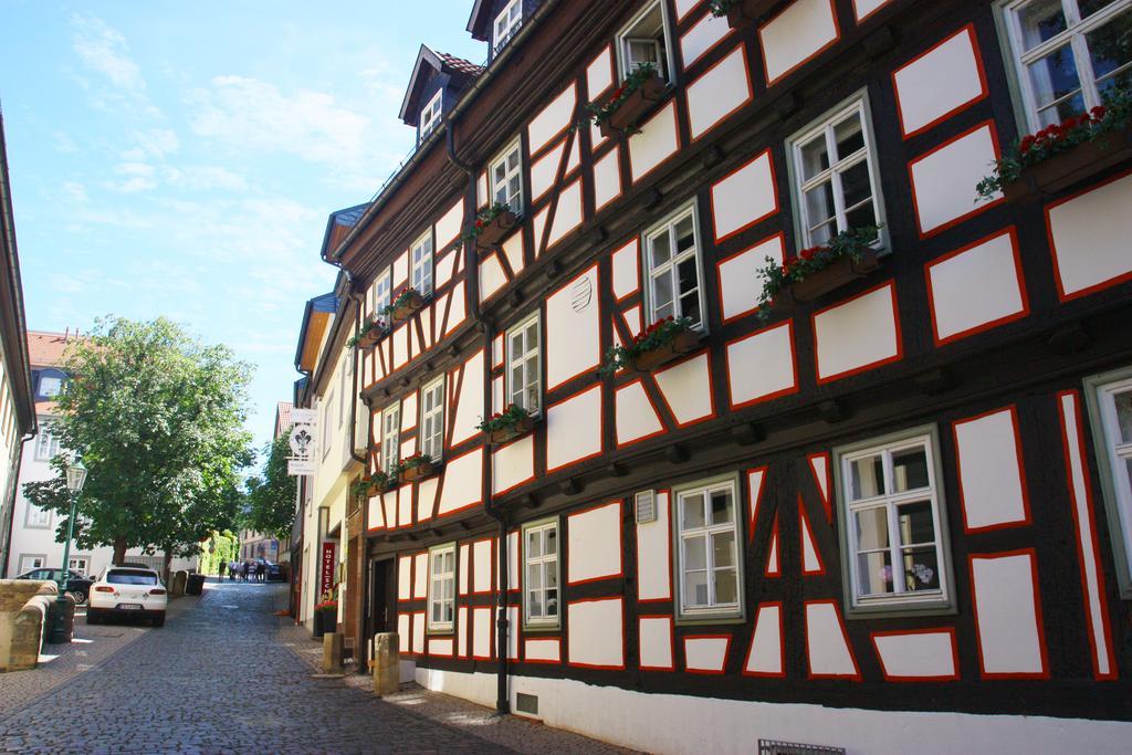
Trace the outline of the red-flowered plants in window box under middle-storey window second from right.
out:
[[[766,266],[758,271],[763,290],[758,294],[758,317],[766,320],[774,304],[783,295],[794,301],[813,301],[880,267],[876,242],[880,225],[847,229],[821,247],[798,252],[783,264],[766,258]]]

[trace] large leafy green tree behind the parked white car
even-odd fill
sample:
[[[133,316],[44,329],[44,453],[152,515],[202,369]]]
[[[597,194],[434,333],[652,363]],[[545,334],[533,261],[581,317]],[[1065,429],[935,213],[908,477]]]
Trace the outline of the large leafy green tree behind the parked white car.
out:
[[[250,366],[164,318],[104,318],[69,348],[63,369],[52,432],[89,469],[75,522],[80,549],[112,546],[115,564],[129,548],[168,559],[232,525],[232,491],[252,458],[242,429]],[[53,479],[24,490],[61,514],[62,539],[66,462],[53,466]]]

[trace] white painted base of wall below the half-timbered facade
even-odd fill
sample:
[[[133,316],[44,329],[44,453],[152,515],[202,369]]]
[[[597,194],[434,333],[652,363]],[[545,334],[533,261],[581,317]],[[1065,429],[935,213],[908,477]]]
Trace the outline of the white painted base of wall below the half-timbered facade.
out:
[[[417,669],[434,692],[492,706],[494,674]],[[511,677],[517,692],[539,697],[548,726],[651,753],[749,755],[758,739],[844,747],[849,755],[1127,752],[1132,723],[1026,715],[866,711],[796,703],[757,703],[599,687],[573,679]]]

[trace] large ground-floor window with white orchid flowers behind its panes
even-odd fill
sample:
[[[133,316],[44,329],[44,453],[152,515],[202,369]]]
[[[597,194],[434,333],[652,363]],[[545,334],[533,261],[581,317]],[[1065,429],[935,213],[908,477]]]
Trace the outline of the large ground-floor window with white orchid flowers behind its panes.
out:
[[[937,447],[931,428],[837,451],[850,612],[950,607]]]

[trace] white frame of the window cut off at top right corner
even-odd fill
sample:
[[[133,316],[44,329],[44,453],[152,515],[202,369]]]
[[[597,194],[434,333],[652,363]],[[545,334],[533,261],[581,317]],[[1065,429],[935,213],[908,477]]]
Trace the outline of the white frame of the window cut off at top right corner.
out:
[[[1027,132],[1035,132],[1044,128],[1041,118],[1038,114],[1038,104],[1034,96],[1030,78],[1027,74],[1029,65],[1045,58],[1054,50],[1067,44],[1073,54],[1073,62],[1077,67],[1078,79],[1081,84],[1080,92],[1081,97],[1084,101],[1084,110],[1089,111],[1092,108],[1096,108],[1101,104],[1100,93],[1097,88],[1096,76],[1092,71],[1092,60],[1089,57],[1086,36],[1090,32],[1104,26],[1114,16],[1126,12],[1130,8],[1132,8],[1132,0],[1115,0],[1112,5],[1098,10],[1082,22],[1078,0],[1061,0],[1062,11],[1065,14],[1065,31],[1036,45],[1032,50],[1023,52],[1024,43],[1022,41],[1022,27],[1018,18],[1018,11],[1034,1],[1035,0],[1001,0],[998,2],[997,14],[1000,28],[1004,31],[1007,42],[1007,44],[1003,45],[1003,49],[1004,52],[1007,52],[1010,55],[1009,62],[1013,70],[1013,84],[1017,86],[1019,98],[1021,100],[1022,112],[1024,114],[1024,119],[1022,120],[1024,120]],[[1121,72],[1129,70],[1132,70],[1129,66],[1118,68],[1109,74],[1108,78],[1118,76]],[[1055,106],[1057,103],[1071,98],[1074,95],[1075,93],[1071,93],[1060,100],[1055,100],[1050,102],[1047,108]],[[1060,122],[1062,119],[1057,118],[1056,120]]]

